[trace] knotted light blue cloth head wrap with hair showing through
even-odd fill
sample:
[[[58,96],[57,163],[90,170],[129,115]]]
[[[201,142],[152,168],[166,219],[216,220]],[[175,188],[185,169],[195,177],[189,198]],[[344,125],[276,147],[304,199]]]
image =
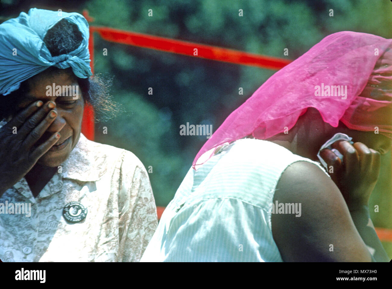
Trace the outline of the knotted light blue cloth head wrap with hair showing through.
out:
[[[69,54],[52,56],[44,37],[57,22],[65,19],[77,25],[82,43]],[[88,49],[89,25],[78,13],[32,8],[17,18],[0,24],[0,94],[7,95],[20,83],[50,66],[61,69],[72,67],[78,78],[92,75]]]

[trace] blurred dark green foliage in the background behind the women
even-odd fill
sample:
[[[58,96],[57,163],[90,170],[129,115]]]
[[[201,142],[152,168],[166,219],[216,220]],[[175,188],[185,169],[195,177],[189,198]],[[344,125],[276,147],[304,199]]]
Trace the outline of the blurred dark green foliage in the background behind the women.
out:
[[[294,60],[328,34],[351,30],[391,35],[389,0],[88,0],[0,2],[1,16],[37,7],[89,11],[91,25],[217,45]],[[153,16],[148,16],[152,9]],[[243,16],[238,10],[243,9]],[[334,16],[330,16],[333,9]],[[107,49],[107,56],[103,49]],[[283,50],[289,49],[289,56]],[[113,77],[111,94],[125,112],[96,124],[96,141],[130,150],[149,173],[156,204],[166,206],[205,137],[181,136],[180,125],[223,120],[275,71],[106,42],[95,35],[95,73]],[[148,94],[152,87],[153,94]],[[243,95],[238,88],[243,88]],[[279,96],[277,96],[279,97]],[[102,134],[107,126],[108,133]],[[392,228],[391,155],[370,200],[375,226]],[[379,206],[379,212],[372,208]],[[392,257],[392,243],[383,243]]]

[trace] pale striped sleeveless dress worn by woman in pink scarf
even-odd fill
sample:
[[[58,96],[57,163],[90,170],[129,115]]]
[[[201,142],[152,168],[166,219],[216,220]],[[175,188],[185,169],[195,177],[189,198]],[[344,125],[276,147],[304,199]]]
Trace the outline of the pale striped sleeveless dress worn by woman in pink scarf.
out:
[[[269,141],[224,145],[196,171],[189,170],[141,262],[282,262],[269,205],[281,174],[297,161],[325,172],[319,163]]]

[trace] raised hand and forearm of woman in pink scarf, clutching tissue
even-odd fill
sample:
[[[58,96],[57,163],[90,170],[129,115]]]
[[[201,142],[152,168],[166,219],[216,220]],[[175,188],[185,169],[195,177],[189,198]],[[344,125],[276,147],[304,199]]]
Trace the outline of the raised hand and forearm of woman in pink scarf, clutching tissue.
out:
[[[352,220],[374,259],[388,262],[388,255],[377,237],[368,208],[379,176],[380,154],[359,142],[336,141],[332,147],[343,155],[343,163],[331,150],[323,150],[321,157],[328,168],[333,168],[329,174],[341,191]]]

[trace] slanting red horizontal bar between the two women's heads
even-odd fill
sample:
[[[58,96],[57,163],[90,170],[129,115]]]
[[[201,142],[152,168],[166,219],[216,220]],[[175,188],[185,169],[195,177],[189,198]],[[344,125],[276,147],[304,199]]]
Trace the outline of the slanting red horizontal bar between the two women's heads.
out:
[[[93,26],[90,28],[93,31],[98,32],[100,36],[107,41],[211,60],[257,66],[267,69],[281,69],[291,62],[290,60],[282,58],[274,58],[233,49],[134,33],[108,27]],[[194,55],[194,49],[198,50],[197,55]]]

